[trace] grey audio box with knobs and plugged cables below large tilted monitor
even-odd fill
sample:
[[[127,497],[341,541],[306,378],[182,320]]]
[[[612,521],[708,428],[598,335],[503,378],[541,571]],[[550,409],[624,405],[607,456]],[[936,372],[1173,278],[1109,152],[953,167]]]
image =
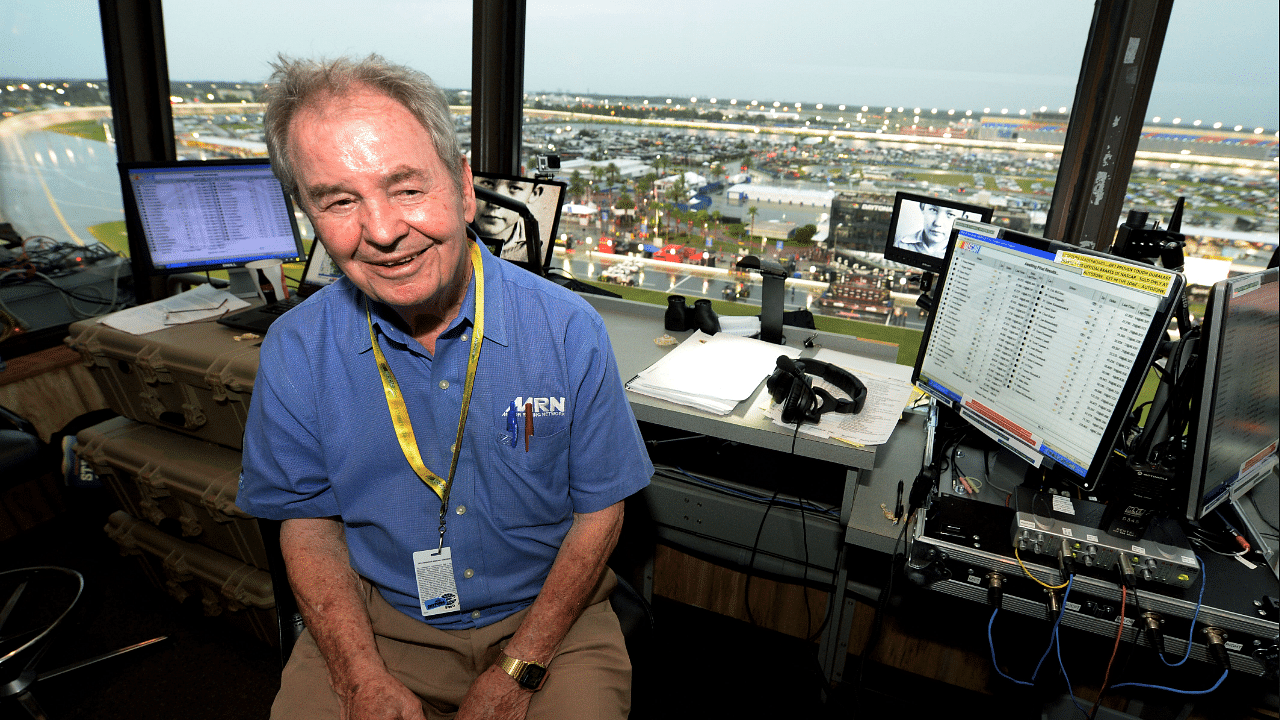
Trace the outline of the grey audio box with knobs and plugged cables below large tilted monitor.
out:
[[[1180,530],[1176,534],[1181,534]],[[1076,565],[1102,571],[1115,570],[1128,561],[1134,575],[1149,583],[1189,588],[1199,578],[1199,564],[1189,543],[1179,547],[1149,539],[1130,541],[1097,528],[1032,512],[1014,515],[1012,539],[1019,552],[1052,557],[1062,552],[1070,555]]]

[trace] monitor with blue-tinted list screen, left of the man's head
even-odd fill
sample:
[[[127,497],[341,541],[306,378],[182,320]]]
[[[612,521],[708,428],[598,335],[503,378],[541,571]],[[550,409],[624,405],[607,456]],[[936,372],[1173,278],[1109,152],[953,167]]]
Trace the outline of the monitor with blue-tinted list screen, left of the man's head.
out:
[[[303,258],[293,204],[262,159],[122,163],[125,225],[155,273]]]

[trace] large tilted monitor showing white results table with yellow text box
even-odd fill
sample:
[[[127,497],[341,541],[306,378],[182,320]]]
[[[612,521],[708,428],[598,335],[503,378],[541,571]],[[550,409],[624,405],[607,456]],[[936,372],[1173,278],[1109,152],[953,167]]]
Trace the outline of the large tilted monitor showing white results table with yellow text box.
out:
[[[1092,491],[1181,295],[1178,273],[956,220],[913,382]]]

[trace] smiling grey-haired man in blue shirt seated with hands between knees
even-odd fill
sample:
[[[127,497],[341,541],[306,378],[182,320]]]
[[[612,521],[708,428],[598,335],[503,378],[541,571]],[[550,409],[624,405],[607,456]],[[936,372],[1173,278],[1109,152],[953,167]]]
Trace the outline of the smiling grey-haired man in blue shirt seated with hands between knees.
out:
[[[273,327],[237,503],[307,630],[273,717],[623,717],[605,568],[653,473],[603,322],[490,255],[444,95],[282,58],[273,168],[343,279]]]

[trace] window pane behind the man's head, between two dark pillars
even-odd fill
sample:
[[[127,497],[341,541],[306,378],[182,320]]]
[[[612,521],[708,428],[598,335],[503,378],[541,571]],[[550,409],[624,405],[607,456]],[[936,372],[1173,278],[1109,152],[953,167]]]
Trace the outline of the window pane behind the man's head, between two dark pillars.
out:
[[[358,5],[358,6],[357,6]],[[426,0],[262,3],[166,0],[165,46],[179,158],[264,156],[259,94],[280,54],[378,53],[421,70],[449,96],[470,146],[471,4]],[[243,18],[251,22],[215,22]],[[311,224],[298,213],[310,250]]]

